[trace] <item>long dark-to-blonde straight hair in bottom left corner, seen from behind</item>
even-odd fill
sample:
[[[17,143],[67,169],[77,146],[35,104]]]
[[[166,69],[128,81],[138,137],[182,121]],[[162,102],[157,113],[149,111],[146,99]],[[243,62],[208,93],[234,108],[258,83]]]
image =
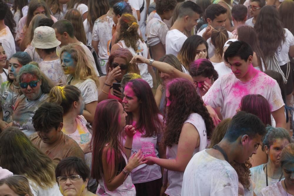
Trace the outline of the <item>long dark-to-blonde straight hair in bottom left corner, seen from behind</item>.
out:
[[[0,134],[0,165],[14,174],[24,175],[42,188],[56,183],[52,160],[16,127]]]

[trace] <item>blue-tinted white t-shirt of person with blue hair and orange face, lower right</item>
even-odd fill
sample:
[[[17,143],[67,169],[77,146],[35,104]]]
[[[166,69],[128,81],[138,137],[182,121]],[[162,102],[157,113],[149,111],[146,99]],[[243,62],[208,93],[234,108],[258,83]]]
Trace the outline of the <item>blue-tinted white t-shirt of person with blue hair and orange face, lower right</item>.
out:
[[[255,183],[254,192],[257,196],[261,196],[261,190],[266,187],[266,176],[263,170],[264,165],[258,165],[256,167],[251,167],[251,180]],[[282,178],[282,180],[285,178]],[[268,177],[268,186],[279,182],[279,179],[271,179]]]

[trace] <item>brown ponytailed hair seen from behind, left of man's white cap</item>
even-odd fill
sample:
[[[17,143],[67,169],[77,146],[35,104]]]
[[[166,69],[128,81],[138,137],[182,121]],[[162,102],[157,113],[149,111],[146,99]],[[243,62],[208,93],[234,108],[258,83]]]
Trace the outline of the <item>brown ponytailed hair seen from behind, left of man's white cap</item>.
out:
[[[223,46],[225,45],[225,42],[228,40],[228,38],[228,32],[224,27],[218,26],[213,29],[211,33],[211,42],[216,48],[215,54],[218,54],[220,57],[223,56]]]

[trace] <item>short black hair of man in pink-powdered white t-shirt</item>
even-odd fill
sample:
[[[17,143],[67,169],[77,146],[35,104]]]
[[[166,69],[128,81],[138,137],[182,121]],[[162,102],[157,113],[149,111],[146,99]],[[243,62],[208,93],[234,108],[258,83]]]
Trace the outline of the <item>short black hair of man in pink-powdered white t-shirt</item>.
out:
[[[228,57],[240,56],[244,61],[247,61],[249,56],[253,56],[251,46],[245,41],[234,41],[225,51],[225,61],[228,62]]]

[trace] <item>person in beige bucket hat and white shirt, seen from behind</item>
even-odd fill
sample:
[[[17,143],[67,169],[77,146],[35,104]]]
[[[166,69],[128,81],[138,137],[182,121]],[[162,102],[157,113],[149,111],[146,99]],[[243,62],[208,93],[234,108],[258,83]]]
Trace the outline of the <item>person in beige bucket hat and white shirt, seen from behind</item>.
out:
[[[43,59],[39,63],[40,70],[51,79],[55,85],[64,85],[66,75],[61,67],[60,59],[56,54],[56,47],[60,45],[56,39],[55,31],[49,26],[39,26],[34,31],[34,38],[31,45]]]

